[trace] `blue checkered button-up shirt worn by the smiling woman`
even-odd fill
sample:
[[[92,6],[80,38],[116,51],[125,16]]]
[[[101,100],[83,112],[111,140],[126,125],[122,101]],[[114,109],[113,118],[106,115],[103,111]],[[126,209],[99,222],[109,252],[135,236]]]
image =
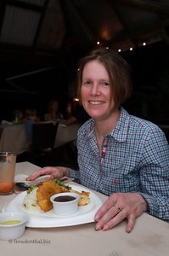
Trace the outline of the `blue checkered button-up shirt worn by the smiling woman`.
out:
[[[102,162],[93,119],[81,126],[77,136],[79,171],[70,169],[70,176],[104,195],[137,192],[149,204],[151,215],[169,220],[169,145],[163,131],[121,108],[121,118],[106,137]]]

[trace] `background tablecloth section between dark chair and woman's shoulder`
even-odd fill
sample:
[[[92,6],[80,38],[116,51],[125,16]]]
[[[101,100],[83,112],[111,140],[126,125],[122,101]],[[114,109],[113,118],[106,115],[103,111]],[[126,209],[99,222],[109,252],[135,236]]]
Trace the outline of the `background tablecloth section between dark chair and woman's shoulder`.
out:
[[[79,124],[64,125],[59,124],[56,133],[54,148],[58,148],[66,143],[74,141],[77,137],[77,131],[79,129]]]

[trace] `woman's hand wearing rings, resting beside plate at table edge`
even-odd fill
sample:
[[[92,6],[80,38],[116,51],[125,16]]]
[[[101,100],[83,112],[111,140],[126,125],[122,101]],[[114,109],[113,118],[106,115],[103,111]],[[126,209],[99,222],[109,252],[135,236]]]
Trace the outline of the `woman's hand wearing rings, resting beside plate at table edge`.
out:
[[[127,232],[131,232],[135,220],[148,209],[147,202],[138,193],[111,194],[95,214],[96,230],[110,230],[127,218]]]

